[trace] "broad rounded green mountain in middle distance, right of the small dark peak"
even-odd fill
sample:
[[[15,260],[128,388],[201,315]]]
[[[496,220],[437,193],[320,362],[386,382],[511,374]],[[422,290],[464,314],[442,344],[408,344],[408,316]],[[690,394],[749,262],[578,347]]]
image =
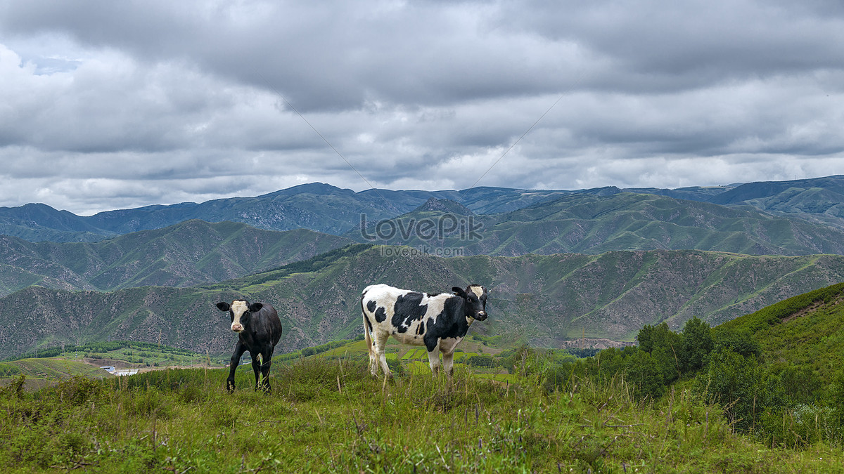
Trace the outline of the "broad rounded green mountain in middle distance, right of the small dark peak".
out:
[[[610,250],[715,250],[748,255],[844,254],[844,230],[652,194],[579,193],[511,213],[466,216],[433,210],[369,222],[350,239],[460,249],[463,255],[518,256]]]

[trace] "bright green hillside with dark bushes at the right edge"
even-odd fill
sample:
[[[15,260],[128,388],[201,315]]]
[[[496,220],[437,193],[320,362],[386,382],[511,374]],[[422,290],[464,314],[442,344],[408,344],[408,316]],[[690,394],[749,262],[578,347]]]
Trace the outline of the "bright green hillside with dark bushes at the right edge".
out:
[[[682,331],[645,325],[636,347],[540,364],[547,391],[580,380],[624,379],[640,399],[689,391],[722,407],[738,433],[767,446],[844,440],[844,283],[771,304],[721,326],[693,318]]]

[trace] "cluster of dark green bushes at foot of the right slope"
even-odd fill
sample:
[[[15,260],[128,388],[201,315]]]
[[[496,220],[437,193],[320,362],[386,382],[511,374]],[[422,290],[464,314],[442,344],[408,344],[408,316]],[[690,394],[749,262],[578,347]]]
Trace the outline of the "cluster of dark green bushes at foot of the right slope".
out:
[[[770,445],[844,439],[844,376],[825,383],[807,366],[766,361],[748,330],[712,329],[699,318],[682,331],[645,326],[638,346],[609,348],[592,358],[549,364],[547,391],[576,390],[576,380],[623,377],[639,400],[658,401],[674,384],[723,407],[737,431]]]

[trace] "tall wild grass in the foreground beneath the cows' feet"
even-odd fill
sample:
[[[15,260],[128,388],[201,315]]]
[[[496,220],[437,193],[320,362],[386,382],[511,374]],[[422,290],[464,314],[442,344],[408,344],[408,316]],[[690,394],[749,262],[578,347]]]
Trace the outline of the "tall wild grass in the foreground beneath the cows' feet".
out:
[[[76,378],[0,391],[3,471],[101,472],[793,472],[841,470],[841,450],[769,450],[733,434],[690,390],[634,396],[623,377],[571,377],[546,391],[467,369],[375,379],[360,359],[251,371]]]

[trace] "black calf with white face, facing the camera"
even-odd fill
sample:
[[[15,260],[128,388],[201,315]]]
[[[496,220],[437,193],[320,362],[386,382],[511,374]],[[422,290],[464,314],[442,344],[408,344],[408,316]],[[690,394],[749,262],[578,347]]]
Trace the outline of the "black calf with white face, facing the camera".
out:
[[[244,299],[235,299],[231,304],[218,303],[217,308],[229,312],[231,330],[238,334],[235,353],[231,354],[226,388],[229,391],[235,390],[235,369],[241,363],[243,353],[249,351],[252,371],[255,372],[255,390],[258,390],[260,380],[261,388],[270,391],[269,368],[273,364],[273,350],[279,343],[282,331],[279,313],[269,304],[249,304]]]

